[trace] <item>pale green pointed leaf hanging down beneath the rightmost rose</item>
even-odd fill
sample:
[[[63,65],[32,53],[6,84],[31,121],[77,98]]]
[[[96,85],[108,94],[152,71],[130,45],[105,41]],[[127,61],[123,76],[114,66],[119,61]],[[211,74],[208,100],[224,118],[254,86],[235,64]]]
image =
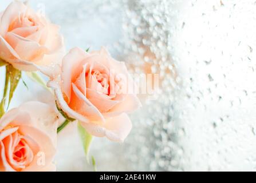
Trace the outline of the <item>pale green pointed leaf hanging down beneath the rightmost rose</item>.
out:
[[[90,143],[92,142],[92,135],[86,132],[86,130],[84,129],[84,127],[82,127],[79,121],[78,121],[78,133],[82,140],[82,146],[84,147],[86,160],[89,164],[89,150],[90,150]]]

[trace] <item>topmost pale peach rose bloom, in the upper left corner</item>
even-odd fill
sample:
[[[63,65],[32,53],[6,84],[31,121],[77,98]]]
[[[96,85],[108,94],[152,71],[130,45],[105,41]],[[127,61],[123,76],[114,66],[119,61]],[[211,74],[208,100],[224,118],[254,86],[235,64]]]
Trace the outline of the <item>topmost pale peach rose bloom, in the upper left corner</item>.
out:
[[[22,2],[0,13],[0,58],[16,69],[49,72],[64,55],[59,27]]]

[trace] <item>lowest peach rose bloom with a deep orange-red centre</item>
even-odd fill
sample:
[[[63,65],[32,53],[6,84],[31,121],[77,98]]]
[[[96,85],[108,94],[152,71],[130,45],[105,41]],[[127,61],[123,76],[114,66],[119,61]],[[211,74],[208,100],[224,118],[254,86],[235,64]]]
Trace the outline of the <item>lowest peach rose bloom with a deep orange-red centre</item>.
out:
[[[0,120],[0,171],[54,171],[57,113],[41,102],[26,102]]]

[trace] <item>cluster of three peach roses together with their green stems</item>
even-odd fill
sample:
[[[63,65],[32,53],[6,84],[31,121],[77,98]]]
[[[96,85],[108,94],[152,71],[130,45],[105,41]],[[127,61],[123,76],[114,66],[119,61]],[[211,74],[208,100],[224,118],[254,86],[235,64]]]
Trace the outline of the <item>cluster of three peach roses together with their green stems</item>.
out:
[[[59,27],[22,2],[14,1],[0,13],[0,66],[6,66],[6,84],[10,82],[12,90],[19,74],[14,80],[11,74],[40,71],[49,77],[48,87],[56,98],[56,108],[31,101],[2,111],[1,171],[56,169],[52,161],[59,112],[65,117],[61,129],[78,121],[90,135],[112,141],[123,141],[132,128],[127,112],[137,109],[140,101],[124,62],[111,58],[104,48],[88,53],[75,47],[65,55]],[[1,109],[5,101],[3,97]],[[43,164],[38,164],[39,152],[44,154]]]

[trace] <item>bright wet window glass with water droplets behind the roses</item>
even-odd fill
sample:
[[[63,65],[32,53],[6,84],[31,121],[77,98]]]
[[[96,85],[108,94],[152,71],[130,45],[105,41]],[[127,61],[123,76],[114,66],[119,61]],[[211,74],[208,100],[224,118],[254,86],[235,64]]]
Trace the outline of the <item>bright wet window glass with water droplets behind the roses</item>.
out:
[[[11,1],[1,1],[0,10]],[[155,98],[130,115],[123,144],[94,138],[99,170],[256,170],[256,3],[253,0],[34,0],[66,49],[105,46],[131,73],[159,74]],[[2,86],[4,69],[1,68]],[[11,107],[43,100],[24,76]],[[2,90],[1,90],[2,92]],[[50,96],[50,94],[48,94]],[[76,124],[58,135],[57,170],[92,170]]]

